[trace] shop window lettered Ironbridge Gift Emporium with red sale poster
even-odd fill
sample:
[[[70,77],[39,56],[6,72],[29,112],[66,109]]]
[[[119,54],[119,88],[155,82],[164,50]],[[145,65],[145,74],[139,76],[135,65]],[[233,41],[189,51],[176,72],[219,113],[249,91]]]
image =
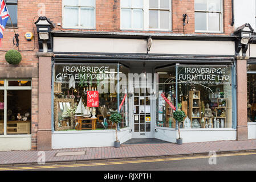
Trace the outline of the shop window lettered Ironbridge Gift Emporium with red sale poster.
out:
[[[117,111],[123,115],[120,127],[128,126],[128,99],[119,110],[125,92],[116,92],[117,67],[118,64],[55,64],[55,131],[115,129],[108,119]],[[123,72],[127,70],[120,68],[119,73]]]

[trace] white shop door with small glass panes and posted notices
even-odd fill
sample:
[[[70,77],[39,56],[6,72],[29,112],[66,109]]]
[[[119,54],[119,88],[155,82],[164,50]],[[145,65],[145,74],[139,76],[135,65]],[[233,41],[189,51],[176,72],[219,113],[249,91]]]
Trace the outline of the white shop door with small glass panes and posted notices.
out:
[[[131,97],[132,138],[153,138],[153,100],[146,86],[134,86]]]

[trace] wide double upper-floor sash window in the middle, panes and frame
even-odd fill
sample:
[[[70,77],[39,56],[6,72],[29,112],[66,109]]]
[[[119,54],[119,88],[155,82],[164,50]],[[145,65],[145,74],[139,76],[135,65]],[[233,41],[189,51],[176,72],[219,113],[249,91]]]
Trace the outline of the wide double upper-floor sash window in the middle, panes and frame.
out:
[[[171,0],[121,0],[121,29],[171,30]]]

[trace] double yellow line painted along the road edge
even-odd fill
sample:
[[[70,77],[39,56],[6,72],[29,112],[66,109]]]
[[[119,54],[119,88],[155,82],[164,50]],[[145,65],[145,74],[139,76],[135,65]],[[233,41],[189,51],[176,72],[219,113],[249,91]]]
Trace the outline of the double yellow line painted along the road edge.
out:
[[[255,155],[255,154],[256,153],[222,154],[222,155],[217,155],[217,158],[218,157],[225,157],[225,156]],[[106,165],[117,165],[117,164],[164,162],[164,161],[172,161],[172,160],[204,159],[204,158],[210,158],[210,157],[211,156],[189,156],[189,157],[180,157],[180,158],[130,160],[130,161],[120,161],[120,162],[103,162],[103,163],[89,163],[89,164],[66,164],[66,165],[56,165],[56,166],[51,165],[51,166],[10,167],[10,168],[0,168],[0,171],[27,170],[27,169],[47,169],[47,168],[68,168],[68,167],[88,167],[88,166],[106,166]]]

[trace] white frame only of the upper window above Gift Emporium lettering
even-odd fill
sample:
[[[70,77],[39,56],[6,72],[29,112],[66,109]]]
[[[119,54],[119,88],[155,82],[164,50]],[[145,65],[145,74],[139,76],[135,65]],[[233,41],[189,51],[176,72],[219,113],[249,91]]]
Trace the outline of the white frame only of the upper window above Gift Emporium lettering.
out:
[[[76,5],[64,5],[63,3],[64,0],[62,0],[62,28],[71,28],[71,29],[90,29],[94,30],[96,28],[96,0],[94,0],[94,6],[80,6],[80,1],[83,0],[78,0],[78,6]],[[70,26],[65,26],[65,7],[78,7],[78,26],[70,27]],[[94,26],[93,27],[84,27],[80,26],[80,19],[81,19],[81,7],[93,7],[94,8]]]

